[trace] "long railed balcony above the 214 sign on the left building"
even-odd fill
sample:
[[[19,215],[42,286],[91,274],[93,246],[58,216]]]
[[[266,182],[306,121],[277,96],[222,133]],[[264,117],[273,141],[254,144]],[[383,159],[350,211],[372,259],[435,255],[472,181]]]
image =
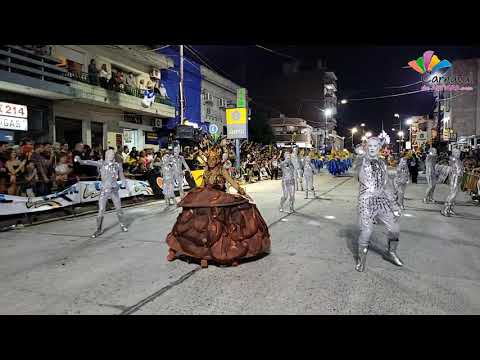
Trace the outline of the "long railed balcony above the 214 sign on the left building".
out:
[[[20,46],[0,46],[0,90],[22,93],[51,100],[70,99],[110,108],[136,110],[157,117],[175,117],[172,102],[155,97],[150,108],[141,104],[143,91],[125,87],[104,89],[92,84],[84,72],[59,67],[60,60],[37,54]]]

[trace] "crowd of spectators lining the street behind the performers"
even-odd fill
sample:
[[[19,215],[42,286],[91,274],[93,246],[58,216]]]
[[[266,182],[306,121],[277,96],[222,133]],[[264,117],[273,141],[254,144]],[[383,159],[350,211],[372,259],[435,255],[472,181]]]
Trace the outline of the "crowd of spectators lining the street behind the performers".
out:
[[[203,169],[207,162],[207,152],[212,139],[204,135],[199,142],[182,146],[182,154],[191,170]],[[123,164],[127,177],[146,179],[151,171],[158,171],[161,159],[166,152],[172,152],[173,137],[160,151],[152,149],[137,150],[128,146],[117,149],[117,161]],[[231,176],[244,183],[262,180],[277,180],[281,176],[280,162],[283,151],[275,145],[241,142],[240,170],[235,167],[235,143],[223,139],[220,142],[223,151],[224,167]],[[19,196],[43,196],[71,186],[81,180],[97,180],[97,169],[92,166],[80,165],[73,161],[75,156],[83,160],[101,160],[103,149],[96,145],[90,147],[76,144],[70,149],[68,144],[34,143],[30,139],[20,144],[10,145],[0,142],[0,193]],[[289,151],[289,150],[287,150]],[[319,170],[325,165],[325,160],[315,150],[300,149],[299,156],[310,155],[315,167]],[[412,182],[417,181],[419,170],[423,170],[426,152],[407,154]],[[448,161],[448,154],[440,154],[440,159]],[[462,153],[465,171],[480,175],[480,149]],[[441,160],[443,161],[443,160]]]

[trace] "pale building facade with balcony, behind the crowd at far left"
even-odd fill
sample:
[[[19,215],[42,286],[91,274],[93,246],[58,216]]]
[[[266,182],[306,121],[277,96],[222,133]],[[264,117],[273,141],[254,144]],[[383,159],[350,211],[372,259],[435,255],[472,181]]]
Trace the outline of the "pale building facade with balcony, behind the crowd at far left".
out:
[[[0,47],[0,102],[26,105],[28,129],[0,129],[18,142],[77,142],[103,148],[128,145],[141,149],[147,135],[175,117],[168,98],[157,96],[142,106],[143,91],[160,70],[173,67],[166,56],[138,45],[49,45],[37,52],[26,46]],[[113,90],[89,76],[89,64],[105,64],[108,74],[132,74],[135,85]],[[7,135],[6,135],[7,134]],[[150,141],[151,142],[151,141]],[[155,145],[152,145],[155,147]]]

